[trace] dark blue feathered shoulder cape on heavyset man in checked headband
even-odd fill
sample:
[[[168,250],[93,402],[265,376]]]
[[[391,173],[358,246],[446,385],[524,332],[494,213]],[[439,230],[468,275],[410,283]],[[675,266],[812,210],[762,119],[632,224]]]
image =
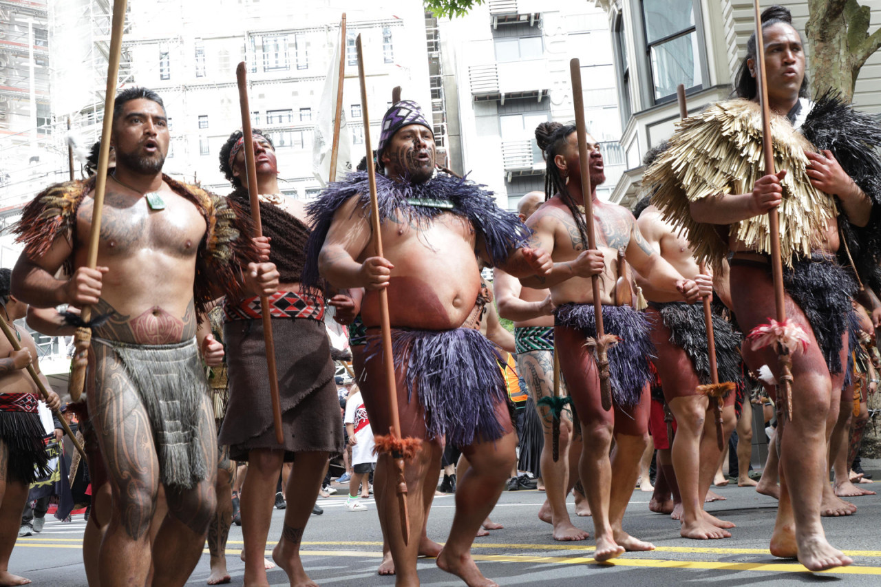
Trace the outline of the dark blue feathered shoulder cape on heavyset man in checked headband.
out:
[[[522,246],[529,237],[529,228],[511,212],[505,212],[484,186],[464,178],[439,173],[424,183],[396,182],[385,175],[376,175],[376,192],[380,221],[400,218],[426,226],[436,216],[451,212],[470,220],[483,237],[492,263],[501,263],[511,250]],[[300,282],[309,287],[318,284],[318,255],[327,237],[334,213],[350,197],[358,197],[361,210],[370,218],[370,185],[367,172],[346,176],[342,182],[330,183],[315,202],[307,204],[312,234],[306,248],[306,265]]]

